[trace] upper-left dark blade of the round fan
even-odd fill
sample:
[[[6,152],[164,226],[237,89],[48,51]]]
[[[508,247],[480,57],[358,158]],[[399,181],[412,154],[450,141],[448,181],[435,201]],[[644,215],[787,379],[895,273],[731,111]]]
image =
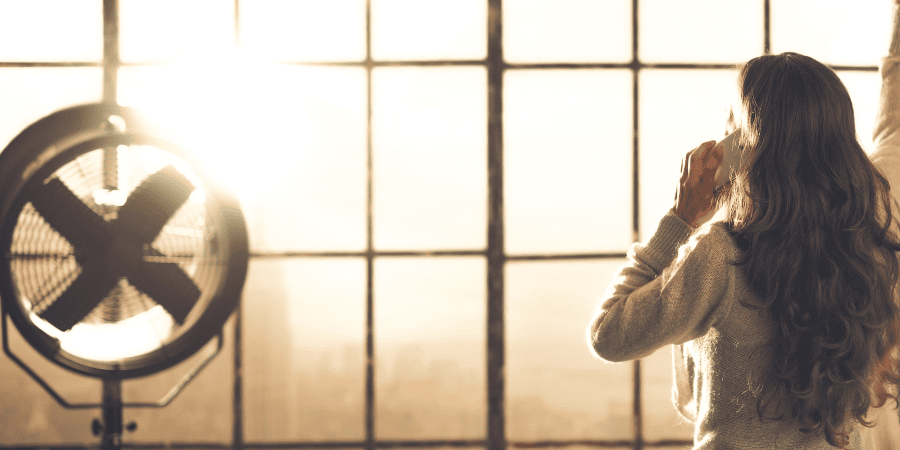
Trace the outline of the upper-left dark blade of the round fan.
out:
[[[102,248],[109,244],[110,224],[75,196],[59,178],[38,187],[30,200],[44,220],[73,247]]]

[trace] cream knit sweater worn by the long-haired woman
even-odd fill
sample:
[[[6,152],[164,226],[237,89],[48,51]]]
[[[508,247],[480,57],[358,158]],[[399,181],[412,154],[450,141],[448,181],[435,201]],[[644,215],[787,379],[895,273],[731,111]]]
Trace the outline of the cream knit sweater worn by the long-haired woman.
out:
[[[900,11],[882,61],[883,86],[872,160],[900,199]],[[900,214],[900,207],[894,209]],[[628,263],[597,307],[588,339],[607,361],[642,358],[672,344],[672,400],[694,423],[694,449],[834,449],[797,425],[762,423],[756,412],[761,361],[755,352],[773,333],[766,314],[741,305],[758,300],[721,222],[691,228],[670,211],[646,244],[634,244]],[[873,409],[874,428],[851,423],[850,449],[900,449],[900,417],[893,403]]]

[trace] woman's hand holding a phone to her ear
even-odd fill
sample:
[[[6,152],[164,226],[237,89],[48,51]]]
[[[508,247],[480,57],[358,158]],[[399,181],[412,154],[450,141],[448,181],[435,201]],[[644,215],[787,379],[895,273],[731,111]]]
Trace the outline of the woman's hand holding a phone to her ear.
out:
[[[721,163],[722,146],[716,141],[700,144],[681,160],[681,180],[672,210],[694,228],[715,206],[716,169]]]

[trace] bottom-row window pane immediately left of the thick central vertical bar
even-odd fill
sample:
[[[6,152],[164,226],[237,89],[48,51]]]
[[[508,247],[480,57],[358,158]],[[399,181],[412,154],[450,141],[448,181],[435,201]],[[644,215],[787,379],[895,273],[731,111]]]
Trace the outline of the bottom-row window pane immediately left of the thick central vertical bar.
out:
[[[379,439],[485,436],[485,261],[375,261]]]

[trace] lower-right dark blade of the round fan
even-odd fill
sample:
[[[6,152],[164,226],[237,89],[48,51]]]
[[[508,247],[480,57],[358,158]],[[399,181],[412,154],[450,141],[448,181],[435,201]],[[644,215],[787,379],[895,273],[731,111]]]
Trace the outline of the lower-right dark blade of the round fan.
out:
[[[132,286],[162,305],[175,319],[184,323],[185,317],[200,298],[200,289],[176,263],[148,262],[128,276]]]

